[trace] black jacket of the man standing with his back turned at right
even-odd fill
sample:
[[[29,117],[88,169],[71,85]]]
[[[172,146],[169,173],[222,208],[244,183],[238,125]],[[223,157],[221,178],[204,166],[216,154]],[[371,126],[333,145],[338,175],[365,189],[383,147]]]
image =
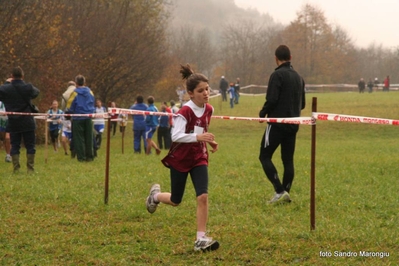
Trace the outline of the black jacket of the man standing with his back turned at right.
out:
[[[275,69],[267,86],[266,102],[259,117],[299,117],[305,108],[305,81],[285,62]]]

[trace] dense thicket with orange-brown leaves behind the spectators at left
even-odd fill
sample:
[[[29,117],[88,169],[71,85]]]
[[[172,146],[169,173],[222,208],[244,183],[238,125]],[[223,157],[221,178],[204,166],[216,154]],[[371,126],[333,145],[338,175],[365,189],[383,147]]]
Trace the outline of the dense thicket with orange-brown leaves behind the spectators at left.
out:
[[[15,0],[0,6],[0,73],[24,69],[39,107],[77,74],[103,102],[134,101],[161,77],[167,52],[163,0]]]

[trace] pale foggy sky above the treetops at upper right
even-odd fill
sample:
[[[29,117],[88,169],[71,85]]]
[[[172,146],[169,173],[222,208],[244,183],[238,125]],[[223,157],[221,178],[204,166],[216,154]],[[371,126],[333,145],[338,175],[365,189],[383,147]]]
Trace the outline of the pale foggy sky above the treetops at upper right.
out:
[[[399,47],[399,0],[234,0],[288,25],[305,4],[324,11],[328,24],[340,25],[358,47]]]

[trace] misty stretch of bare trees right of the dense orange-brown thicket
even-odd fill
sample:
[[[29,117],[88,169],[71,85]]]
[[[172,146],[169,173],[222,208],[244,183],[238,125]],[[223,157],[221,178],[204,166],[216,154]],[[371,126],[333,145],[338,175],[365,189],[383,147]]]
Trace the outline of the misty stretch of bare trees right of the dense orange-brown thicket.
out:
[[[229,2],[221,3],[222,10]],[[197,10],[204,20],[211,20],[202,11]],[[367,81],[377,77],[382,81],[387,75],[391,83],[399,83],[399,46],[384,47],[377,44],[381,38],[375,36],[375,42],[359,48],[344,28],[330,24],[324,11],[311,4],[303,5],[287,26],[259,20],[261,15],[256,13],[251,13],[252,20],[246,15],[240,19],[232,7],[227,12],[233,13],[234,19],[222,17],[223,29],[216,42],[209,41],[214,35],[209,27],[175,26],[171,35],[175,57],[195,63],[199,71],[209,74],[213,88],[218,87],[222,75],[232,81],[240,77],[244,85],[266,85],[276,67],[274,50],[279,44],[290,47],[293,66],[308,84],[357,84],[360,78]],[[205,49],[200,54],[192,53],[192,47],[200,43]]]

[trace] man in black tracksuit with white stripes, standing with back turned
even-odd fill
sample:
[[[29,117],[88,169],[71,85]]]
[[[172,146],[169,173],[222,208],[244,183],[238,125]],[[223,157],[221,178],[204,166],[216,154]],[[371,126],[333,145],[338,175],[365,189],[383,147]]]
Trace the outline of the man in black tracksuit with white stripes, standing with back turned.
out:
[[[266,102],[259,117],[299,117],[305,108],[305,82],[291,65],[291,52],[280,45],[275,52],[277,68],[272,73],[267,87]],[[289,195],[294,179],[294,151],[299,125],[268,123],[262,137],[259,160],[276,194],[270,203],[291,202]],[[281,145],[281,159],[284,165],[283,183],[272,162],[272,156]]]

